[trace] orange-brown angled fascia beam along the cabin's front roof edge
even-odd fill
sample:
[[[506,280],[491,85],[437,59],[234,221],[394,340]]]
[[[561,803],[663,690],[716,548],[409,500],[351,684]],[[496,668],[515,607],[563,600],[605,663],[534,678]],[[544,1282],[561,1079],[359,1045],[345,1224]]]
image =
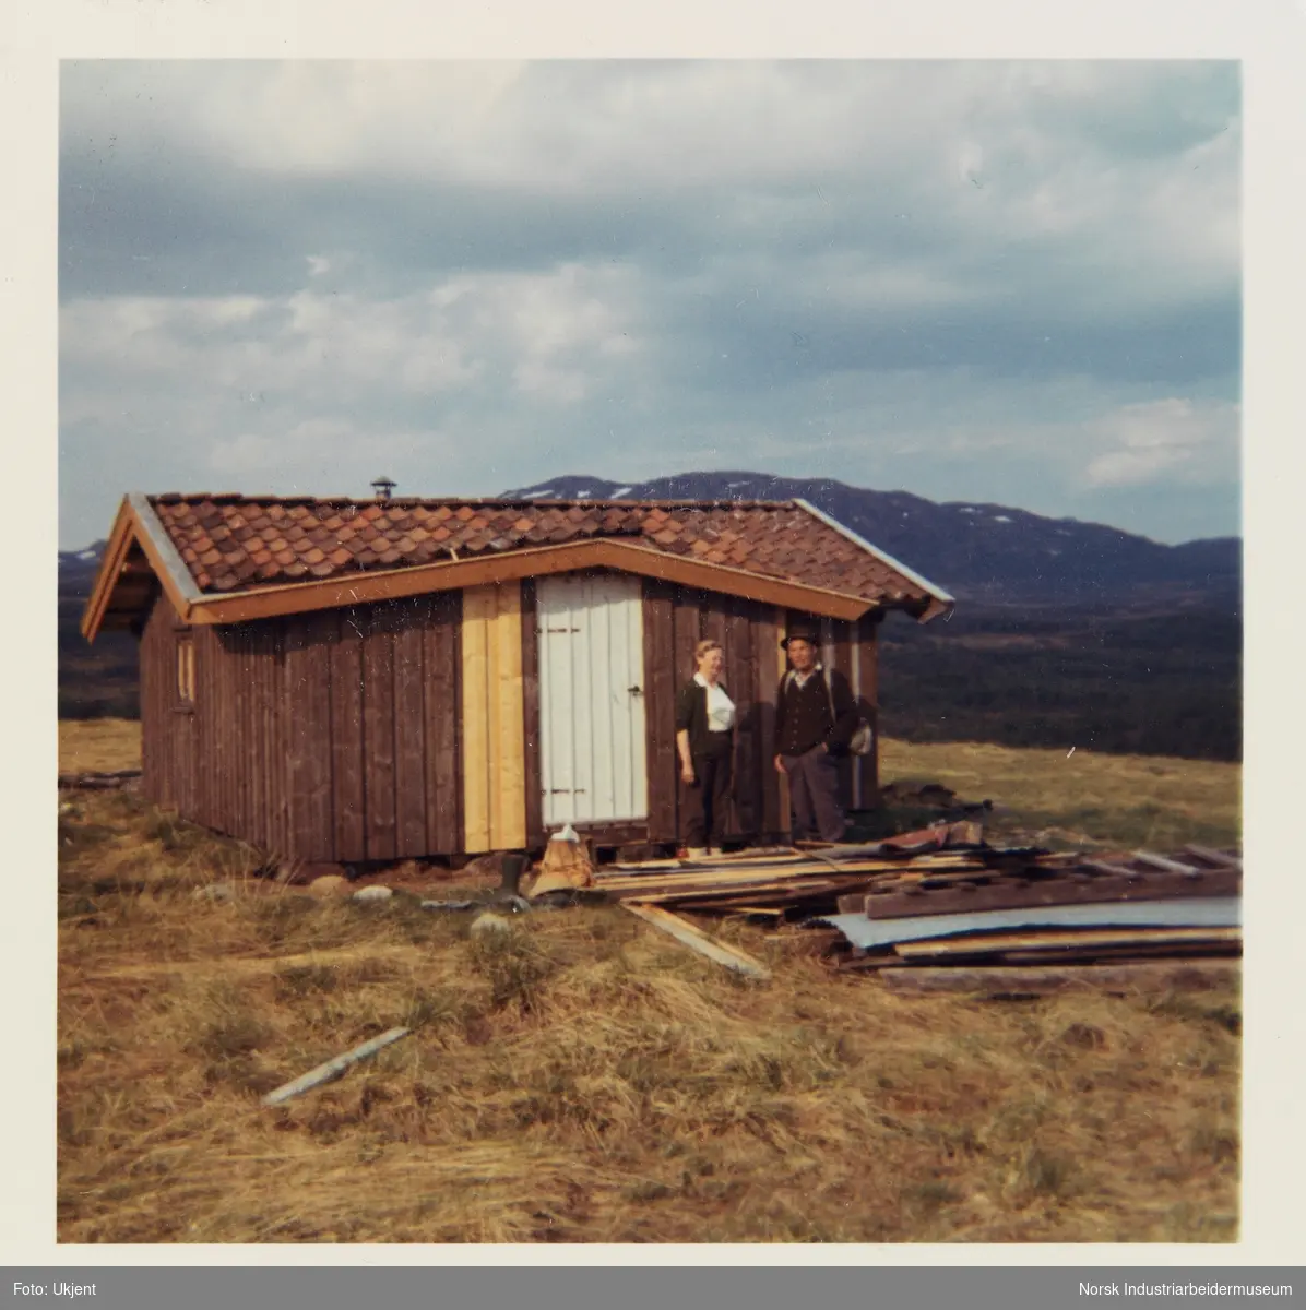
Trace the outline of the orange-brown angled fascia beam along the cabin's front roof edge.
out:
[[[672,555],[654,546],[625,541],[589,540],[559,546],[507,550],[476,559],[451,559],[407,569],[386,569],[348,574],[314,582],[254,587],[227,596],[203,596],[190,607],[195,624],[237,624],[272,614],[299,614],[312,609],[334,609],[368,601],[397,600],[432,591],[485,587],[582,569],[616,569],[643,578],[659,578],[685,587],[701,587],[728,596],[743,596],[775,605],[802,609],[832,618],[857,618],[874,601],[824,587],[808,587],[748,572],[724,565]]]

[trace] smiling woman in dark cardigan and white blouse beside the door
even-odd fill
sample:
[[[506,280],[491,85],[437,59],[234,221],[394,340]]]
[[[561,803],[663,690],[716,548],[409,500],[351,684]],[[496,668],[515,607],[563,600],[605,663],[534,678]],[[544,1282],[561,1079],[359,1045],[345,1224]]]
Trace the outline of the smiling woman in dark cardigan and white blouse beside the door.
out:
[[[700,642],[694,648],[698,671],[676,697],[676,749],[690,859],[719,855],[726,832],[735,703],[720,684],[724,662],[720,642]]]

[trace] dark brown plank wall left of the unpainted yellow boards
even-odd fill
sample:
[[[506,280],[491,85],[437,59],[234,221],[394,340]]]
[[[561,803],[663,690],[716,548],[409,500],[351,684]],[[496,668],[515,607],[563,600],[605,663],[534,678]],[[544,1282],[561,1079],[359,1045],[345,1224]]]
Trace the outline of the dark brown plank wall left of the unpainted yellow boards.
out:
[[[458,852],[460,616],[451,595],[193,629],[187,714],[160,599],[140,645],[145,795],[283,858]]]

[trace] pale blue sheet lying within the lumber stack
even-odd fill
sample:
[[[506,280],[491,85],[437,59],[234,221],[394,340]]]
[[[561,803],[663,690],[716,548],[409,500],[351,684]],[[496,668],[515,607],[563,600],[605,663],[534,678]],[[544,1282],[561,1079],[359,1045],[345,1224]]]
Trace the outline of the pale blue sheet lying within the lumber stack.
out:
[[[1044,905],[1030,909],[977,910],[973,914],[922,914],[918,918],[872,920],[865,914],[832,914],[832,924],[854,946],[870,950],[895,942],[992,933],[1024,927],[1238,927],[1241,896],[1193,896],[1112,905]]]

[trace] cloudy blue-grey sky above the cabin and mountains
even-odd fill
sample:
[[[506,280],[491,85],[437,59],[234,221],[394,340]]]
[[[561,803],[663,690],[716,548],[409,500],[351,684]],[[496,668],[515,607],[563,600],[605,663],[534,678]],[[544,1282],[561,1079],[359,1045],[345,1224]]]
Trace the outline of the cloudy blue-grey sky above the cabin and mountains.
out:
[[[1234,63],[65,63],[60,546],[127,490],[836,477],[1241,531]]]

